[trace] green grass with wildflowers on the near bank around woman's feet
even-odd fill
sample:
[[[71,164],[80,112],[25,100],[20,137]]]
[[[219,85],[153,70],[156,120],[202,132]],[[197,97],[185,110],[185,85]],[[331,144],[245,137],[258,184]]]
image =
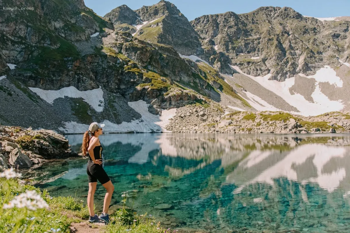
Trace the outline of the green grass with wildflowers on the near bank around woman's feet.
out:
[[[89,211],[80,198],[72,196],[50,197],[47,190],[41,191],[31,185],[24,185],[17,179],[0,178],[0,232],[70,232],[72,222],[80,222],[89,218]],[[3,209],[4,204],[9,203],[15,196],[35,190],[37,194],[49,205],[47,209],[30,210],[26,207],[13,207]],[[136,220],[136,221],[134,221]],[[93,225],[92,228],[100,228],[97,231],[110,233],[125,233],[130,231],[137,233],[161,233],[165,229],[156,224],[146,214],[136,215],[130,210],[119,209],[110,214],[110,224],[107,226]],[[52,230],[51,228],[54,228]],[[158,229],[157,229],[158,228]]]

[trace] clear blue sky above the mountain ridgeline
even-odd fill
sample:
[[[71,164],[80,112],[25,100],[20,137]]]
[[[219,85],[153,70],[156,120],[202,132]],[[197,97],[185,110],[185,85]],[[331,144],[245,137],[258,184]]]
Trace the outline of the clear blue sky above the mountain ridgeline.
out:
[[[113,8],[127,5],[133,10],[151,6],[160,0],[84,0],[85,5],[100,16]],[[233,11],[251,12],[261,6],[287,6],[302,15],[313,17],[350,16],[350,0],[171,0],[188,20],[207,14]]]

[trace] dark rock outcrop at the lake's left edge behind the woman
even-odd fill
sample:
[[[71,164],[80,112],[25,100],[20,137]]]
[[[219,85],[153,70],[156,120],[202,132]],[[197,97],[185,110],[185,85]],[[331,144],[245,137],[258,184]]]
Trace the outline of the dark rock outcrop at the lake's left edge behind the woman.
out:
[[[52,130],[0,125],[0,172],[37,168],[50,159],[77,157],[68,140]]]

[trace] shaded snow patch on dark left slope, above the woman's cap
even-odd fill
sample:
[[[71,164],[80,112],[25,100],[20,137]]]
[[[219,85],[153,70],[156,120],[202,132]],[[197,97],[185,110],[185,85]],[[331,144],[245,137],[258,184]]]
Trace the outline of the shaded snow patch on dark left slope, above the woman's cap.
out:
[[[83,100],[97,112],[102,112],[104,108],[103,90],[101,87],[85,91],[80,91],[73,86],[64,87],[59,90],[43,90],[36,87],[29,87],[29,89],[50,104],[53,104],[54,100],[58,98],[67,96],[71,98],[83,98]],[[102,103],[100,103],[100,101],[102,101]]]

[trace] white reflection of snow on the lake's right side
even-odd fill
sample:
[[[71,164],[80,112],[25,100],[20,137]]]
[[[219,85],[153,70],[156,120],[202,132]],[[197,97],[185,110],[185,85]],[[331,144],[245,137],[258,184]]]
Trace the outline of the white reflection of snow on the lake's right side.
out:
[[[345,154],[346,150],[344,147],[326,146],[319,144],[301,145],[295,148],[293,151],[289,152],[282,160],[265,169],[254,179],[246,182],[243,185],[240,185],[240,187],[236,189],[234,193],[239,193],[247,184],[250,183],[266,182],[273,185],[274,179],[283,176],[287,177],[288,180],[297,181],[298,177],[305,177],[304,174],[308,174],[309,171],[306,169],[296,171],[294,166],[302,165],[311,156],[314,156],[312,163],[313,166],[315,166],[317,169],[317,177],[311,177],[309,179],[303,180],[302,183],[316,182],[318,185],[320,185],[321,188],[332,192],[344,179],[346,175],[345,169],[337,168],[336,171],[333,171],[329,174],[324,173],[323,168],[332,158],[343,158]],[[245,160],[246,164],[245,162],[242,162],[241,164],[245,164],[245,167],[252,167],[254,165],[258,165],[259,162],[261,163],[261,161],[265,160],[268,156],[269,155],[266,152],[252,152],[250,156]]]

